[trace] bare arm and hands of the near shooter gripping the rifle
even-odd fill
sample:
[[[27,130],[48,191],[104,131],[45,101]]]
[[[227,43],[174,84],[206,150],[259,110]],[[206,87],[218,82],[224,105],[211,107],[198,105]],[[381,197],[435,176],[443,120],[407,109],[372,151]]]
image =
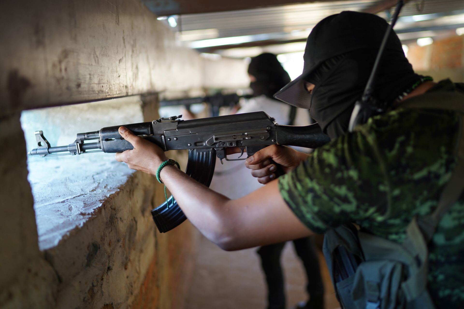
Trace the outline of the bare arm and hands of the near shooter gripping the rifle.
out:
[[[127,163],[129,168],[154,175],[160,164],[168,159],[161,148],[126,128],[120,127],[119,132],[134,146],[133,150],[116,153],[116,160]],[[275,147],[272,149],[282,150]],[[289,151],[284,149],[286,153]],[[296,165],[293,162],[295,160],[290,160],[290,164],[285,165],[286,156],[282,154],[266,157],[265,153],[259,155],[260,152],[253,156],[257,158],[255,162],[275,157],[277,163],[288,168]],[[292,156],[300,157],[298,154]],[[279,162],[279,157],[283,161]],[[269,170],[269,163],[264,165],[267,165],[264,170]],[[261,168],[258,165],[250,167],[254,170]],[[230,200],[196,182],[172,165],[165,166],[160,176],[193,225],[225,250],[277,243],[301,238],[310,233],[285,204],[276,181],[271,181],[238,200]]]

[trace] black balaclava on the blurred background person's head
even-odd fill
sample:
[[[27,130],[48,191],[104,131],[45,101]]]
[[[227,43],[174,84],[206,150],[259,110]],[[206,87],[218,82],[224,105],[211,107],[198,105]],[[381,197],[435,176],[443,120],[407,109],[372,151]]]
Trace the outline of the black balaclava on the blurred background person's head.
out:
[[[264,53],[251,59],[248,74],[256,78],[250,83],[254,96],[265,95],[271,99],[280,88],[290,82],[290,76],[284,70],[276,55]]]

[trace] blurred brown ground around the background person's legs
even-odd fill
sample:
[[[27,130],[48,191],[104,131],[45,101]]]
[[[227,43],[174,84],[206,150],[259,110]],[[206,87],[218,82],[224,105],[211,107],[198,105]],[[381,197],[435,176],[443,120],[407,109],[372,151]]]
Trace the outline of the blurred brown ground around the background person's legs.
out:
[[[201,237],[195,257],[193,284],[187,297],[186,309],[265,309],[264,276],[256,248],[237,252],[219,249]],[[340,308],[322,253],[320,263],[325,284],[326,309]],[[282,255],[286,284],[287,308],[306,300],[306,278],[303,265],[296,256],[291,242]]]

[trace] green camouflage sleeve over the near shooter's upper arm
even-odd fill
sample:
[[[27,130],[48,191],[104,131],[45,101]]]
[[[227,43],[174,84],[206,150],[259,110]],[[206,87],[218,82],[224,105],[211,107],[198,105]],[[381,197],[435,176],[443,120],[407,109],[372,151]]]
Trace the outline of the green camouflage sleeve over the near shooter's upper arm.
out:
[[[370,139],[361,132],[342,136],[279,178],[285,202],[313,232],[366,217],[381,220],[386,212],[386,167]]]

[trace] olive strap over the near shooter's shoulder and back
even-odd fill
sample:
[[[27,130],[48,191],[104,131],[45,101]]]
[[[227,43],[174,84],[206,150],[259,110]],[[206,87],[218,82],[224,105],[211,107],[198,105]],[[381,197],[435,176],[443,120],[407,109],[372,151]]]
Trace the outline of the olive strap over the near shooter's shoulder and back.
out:
[[[418,268],[402,284],[406,299],[427,308],[432,303],[426,292],[428,274],[428,248],[435,230],[443,215],[458,201],[464,190],[464,95],[457,92],[433,92],[414,97],[404,102],[401,108],[424,108],[456,111],[460,115],[456,155],[458,163],[453,170],[450,180],[445,185],[438,207],[432,214],[414,218],[406,230],[407,238],[403,244],[418,259]],[[419,228],[420,227],[420,228]]]

